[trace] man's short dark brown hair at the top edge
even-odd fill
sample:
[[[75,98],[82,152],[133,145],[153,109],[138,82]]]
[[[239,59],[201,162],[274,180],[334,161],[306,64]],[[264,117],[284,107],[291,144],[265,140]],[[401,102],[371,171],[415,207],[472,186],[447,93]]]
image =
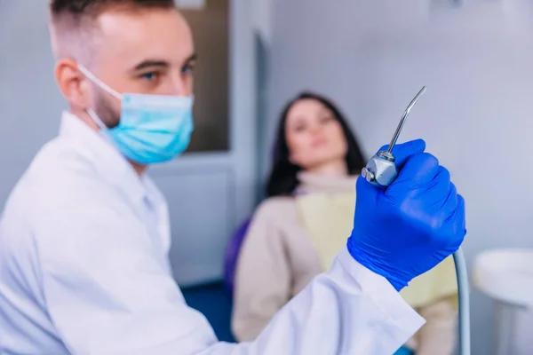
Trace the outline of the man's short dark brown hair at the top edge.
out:
[[[173,0],[52,0],[50,2],[52,20],[63,14],[77,18],[84,16],[96,18],[100,13],[112,7],[170,9],[175,5]]]

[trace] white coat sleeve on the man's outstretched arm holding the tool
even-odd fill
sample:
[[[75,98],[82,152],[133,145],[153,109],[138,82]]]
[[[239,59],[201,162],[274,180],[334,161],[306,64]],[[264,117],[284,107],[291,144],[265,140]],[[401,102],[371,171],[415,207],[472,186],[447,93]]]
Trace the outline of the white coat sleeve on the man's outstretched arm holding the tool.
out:
[[[392,354],[423,324],[346,248],[251,343],[221,343],[187,307],[146,228],[101,205],[53,214],[39,228],[47,312],[84,355]]]

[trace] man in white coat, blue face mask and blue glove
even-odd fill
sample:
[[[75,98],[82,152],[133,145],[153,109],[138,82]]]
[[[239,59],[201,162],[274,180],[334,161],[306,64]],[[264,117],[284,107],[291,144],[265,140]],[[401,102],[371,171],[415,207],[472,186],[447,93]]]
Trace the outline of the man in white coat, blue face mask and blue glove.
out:
[[[172,0],[50,9],[68,112],[0,220],[1,355],[382,355],[423,325],[398,291],[459,247],[465,205],[415,140],[395,148],[402,170],[386,190],[358,181],[330,271],[254,342],[218,342],[172,280],[167,207],[146,174],[193,130],[187,22]]]

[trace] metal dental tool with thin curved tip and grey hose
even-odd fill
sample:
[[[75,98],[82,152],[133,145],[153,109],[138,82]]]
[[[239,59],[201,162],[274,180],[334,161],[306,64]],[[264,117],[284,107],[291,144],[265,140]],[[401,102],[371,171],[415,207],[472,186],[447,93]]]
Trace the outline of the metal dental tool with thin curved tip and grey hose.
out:
[[[407,116],[410,114],[411,108],[415,106],[424,92],[426,92],[426,86],[418,91],[417,96],[411,100],[409,106],[403,112],[402,119],[394,131],[394,136],[391,139],[388,149],[386,151],[379,151],[378,154],[372,156],[366,167],[362,169],[362,177],[366,178],[370,184],[386,187],[391,185],[398,176],[398,169],[394,163],[393,148],[396,145],[398,137],[400,137],[403,125]],[[456,266],[459,302],[459,354],[470,355],[470,294],[468,273],[466,271],[465,256],[463,255],[462,248],[458,248],[457,252],[453,255],[453,259]]]

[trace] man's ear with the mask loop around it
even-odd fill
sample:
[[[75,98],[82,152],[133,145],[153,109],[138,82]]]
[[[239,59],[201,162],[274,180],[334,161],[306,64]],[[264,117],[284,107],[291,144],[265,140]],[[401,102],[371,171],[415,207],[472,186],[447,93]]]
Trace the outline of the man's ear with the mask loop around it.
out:
[[[69,106],[79,110],[91,106],[91,82],[80,72],[76,60],[59,59],[54,75]]]

